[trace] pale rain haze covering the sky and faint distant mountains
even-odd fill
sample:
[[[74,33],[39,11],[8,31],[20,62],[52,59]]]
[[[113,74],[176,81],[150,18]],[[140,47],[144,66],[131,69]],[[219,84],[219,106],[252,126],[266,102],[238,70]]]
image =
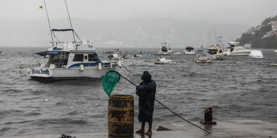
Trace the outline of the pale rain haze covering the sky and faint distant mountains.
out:
[[[1,1],[0,46],[49,46],[44,2]],[[51,28],[71,28],[65,1],[45,0]],[[43,5],[43,10],[39,6]],[[101,47],[172,47],[235,41],[241,33],[275,16],[277,1],[88,1],[67,0],[73,29],[82,41]],[[211,37],[210,30],[212,32]],[[72,38],[68,34],[68,38]],[[66,35],[57,36],[68,39]]]

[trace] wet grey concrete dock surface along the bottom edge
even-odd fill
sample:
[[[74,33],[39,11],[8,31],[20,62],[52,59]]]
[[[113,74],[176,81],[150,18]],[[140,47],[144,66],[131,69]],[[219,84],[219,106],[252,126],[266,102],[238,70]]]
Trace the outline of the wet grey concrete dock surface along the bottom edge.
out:
[[[236,121],[217,121],[216,125],[202,125],[199,122],[192,122],[199,127],[211,132],[211,134],[199,129],[187,122],[174,122],[164,124],[159,128],[167,131],[153,131],[152,135],[134,134],[131,137],[124,138],[230,138],[230,137],[271,137],[277,138],[277,119],[274,120],[236,120]],[[92,134],[68,134],[76,138],[119,138],[108,136],[108,133],[92,133]],[[61,134],[52,135],[28,135],[13,136],[0,138],[58,138]],[[122,138],[122,137],[121,137]]]

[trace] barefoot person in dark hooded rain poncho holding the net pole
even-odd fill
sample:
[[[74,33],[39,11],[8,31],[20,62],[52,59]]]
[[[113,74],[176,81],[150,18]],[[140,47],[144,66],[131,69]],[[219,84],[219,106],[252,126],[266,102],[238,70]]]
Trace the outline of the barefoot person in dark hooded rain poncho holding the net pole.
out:
[[[144,133],[145,122],[148,122],[149,129],[145,134],[152,134],[152,116],[154,112],[154,99],[156,94],[156,83],[151,80],[151,75],[148,71],[144,71],[141,76],[142,82],[136,87],[136,95],[139,96],[139,122],[141,129],[136,133]],[[151,95],[151,96],[149,96]]]

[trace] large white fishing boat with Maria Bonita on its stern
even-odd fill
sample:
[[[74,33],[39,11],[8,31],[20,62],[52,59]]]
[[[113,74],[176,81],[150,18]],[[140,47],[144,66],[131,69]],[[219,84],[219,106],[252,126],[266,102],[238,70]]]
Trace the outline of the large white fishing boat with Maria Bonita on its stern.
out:
[[[52,33],[53,31],[75,33],[73,29],[52,29]],[[79,38],[77,34],[76,36]],[[40,67],[30,66],[28,69],[28,76],[39,81],[101,77],[120,64],[120,55],[97,55],[96,49],[83,41],[52,42],[52,48],[36,54],[49,55],[46,64],[41,64]]]

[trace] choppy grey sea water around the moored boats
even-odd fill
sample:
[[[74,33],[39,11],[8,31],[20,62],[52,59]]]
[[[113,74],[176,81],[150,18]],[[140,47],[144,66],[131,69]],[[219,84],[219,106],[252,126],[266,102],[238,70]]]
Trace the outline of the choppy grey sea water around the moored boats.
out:
[[[105,49],[96,49],[99,53],[105,52]],[[0,136],[108,131],[108,96],[103,91],[101,78],[55,83],[33,81],[26,76],[29,65],[39,66],[32,53],[47,48],[0,47],[0,50],[3,51],[0,54]],[[131,49],[122,49],[126,50]],[[159,48],[146,51],[154,54]],[[173,61],[165,65],[154,64],[154,56],[124,59],[122,64],[135,75],[124,68],[116,70],[136,84],[141,81],[142,72],[148,70],[157,84],[156,99],[189,121],[203,120],[207,105],[213,107],[214,120],[276,119],[277,67],[267,64],[277,63],[277,55],[272,49],[261,51],[264,59],[227,56],[210,64],[194,63],[195,55],[183,53],[164,56]],[[35,57],[40,63],[47,60]],[[139,129],[135,87],[121,78],[112,94],[134,95],[134,127]],[[182,121],[157,102],[153,119],[153,129]]]

